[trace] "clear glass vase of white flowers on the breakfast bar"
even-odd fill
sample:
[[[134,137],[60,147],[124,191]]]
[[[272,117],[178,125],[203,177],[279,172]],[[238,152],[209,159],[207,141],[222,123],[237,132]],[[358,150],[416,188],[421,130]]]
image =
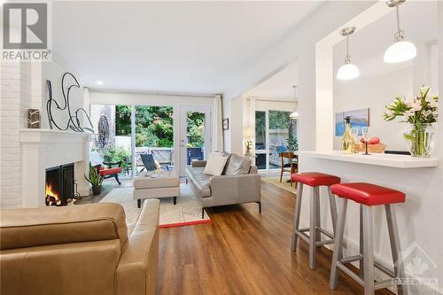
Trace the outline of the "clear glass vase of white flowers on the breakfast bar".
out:
[[[413,157],[429,157],[434,148],[436,137],[432,123],[439,115],[439,97],[431,95],[427,86],[420,88],[420,93],[411,99],[395,97],[391,105],[386,105],[388,112],[383,114],[386,121],[404,117],[401,122],[408,122],[410,127],[404,134]]]

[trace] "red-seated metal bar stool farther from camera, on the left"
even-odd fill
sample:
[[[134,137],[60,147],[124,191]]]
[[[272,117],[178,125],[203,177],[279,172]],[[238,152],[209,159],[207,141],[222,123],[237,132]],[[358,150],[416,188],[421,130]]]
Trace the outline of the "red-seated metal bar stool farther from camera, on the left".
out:
[[[334,243],[334,235],[320,227],[320,187],[327,186],[330,198],[330,215],[332,217],[332,226],[336,227],[337,206],[335,198],[330,191],[332,184],[340,183],[340,178],[334,175],[325,175],[318,172],[296,173],[291,175],[292,182],[299,182],[297,185],[297,198],[295,199],[294,231],[292,234],[292,251],[297,250],[298,237],[309,244],[309,268],[315,269],[316,247]],[[312,187],[310,202],[309,228],[299,229],[301,198],[303,194],[303,185]],[[309,231],[309,236],[305,233]],[[330,240],[322,241],[321,234],[330,237]]]

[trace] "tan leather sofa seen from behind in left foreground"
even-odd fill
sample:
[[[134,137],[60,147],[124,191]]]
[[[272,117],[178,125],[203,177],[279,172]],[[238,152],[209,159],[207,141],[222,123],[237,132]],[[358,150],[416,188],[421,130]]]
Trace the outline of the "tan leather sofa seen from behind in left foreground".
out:
[[[0,213],[0,293],[155,294],[159,200],[128,235],[117,204],[6,209]]]

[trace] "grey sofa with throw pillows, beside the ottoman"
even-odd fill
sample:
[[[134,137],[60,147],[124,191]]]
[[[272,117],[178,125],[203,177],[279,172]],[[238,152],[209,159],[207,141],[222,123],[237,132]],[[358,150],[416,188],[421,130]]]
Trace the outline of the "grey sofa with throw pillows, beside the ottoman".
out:
[[[226,175],[227,170],[239,170],[238,167],[243,165],[239,160],[245,158],[235,154],[228,156],[223,175],[220,176],[203,173],[206,161],[195,160],[191,163],[191,167],[186,168],[186,181],[190,182],[201,201],[202,218],[206,207],[251,202],[259,204],[261,213],[261,179],[257,167],[251,166],[249,161],[249,166],[244,172]]]

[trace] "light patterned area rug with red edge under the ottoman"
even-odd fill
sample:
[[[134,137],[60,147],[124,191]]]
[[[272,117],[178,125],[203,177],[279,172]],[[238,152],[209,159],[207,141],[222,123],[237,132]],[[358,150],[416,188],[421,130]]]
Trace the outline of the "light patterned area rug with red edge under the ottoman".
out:
[[[132,198],[133,190],[133,187],[114,188],[100,201],[100,203],[117,203],[123,206],[128,227],[135,225],[140,213],[136,200]],[[206,211],[205,218],[201,218],[201,205],[190,184],[180,184],[180,197],[177,198],[176,205],[173,204],[172,198],[160,198],[160,228],[211,222]]]

